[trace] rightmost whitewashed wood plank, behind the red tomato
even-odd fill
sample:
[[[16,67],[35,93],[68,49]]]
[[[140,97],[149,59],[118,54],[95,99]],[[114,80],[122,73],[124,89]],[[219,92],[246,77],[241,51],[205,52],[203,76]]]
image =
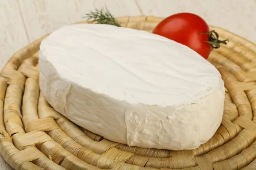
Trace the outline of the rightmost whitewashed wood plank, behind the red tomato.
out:
[[[201,16],[256,43],[256,0],[135,0],[144,15],[168,17],[180,12]]]

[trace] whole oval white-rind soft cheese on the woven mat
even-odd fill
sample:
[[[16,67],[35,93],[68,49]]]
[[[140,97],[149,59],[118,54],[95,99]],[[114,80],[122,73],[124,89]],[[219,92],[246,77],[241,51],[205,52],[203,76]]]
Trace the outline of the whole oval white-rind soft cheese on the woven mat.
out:
[[[156,34],[64,26],[42,41],[39,69],[41,92],[56,111],[114,142],[194,149],[221,124],[221,74],[195,51]]]

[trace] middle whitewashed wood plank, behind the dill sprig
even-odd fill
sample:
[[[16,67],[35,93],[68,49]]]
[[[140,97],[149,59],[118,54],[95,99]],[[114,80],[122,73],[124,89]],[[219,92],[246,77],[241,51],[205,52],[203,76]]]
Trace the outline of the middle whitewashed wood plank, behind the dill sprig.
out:
[[[135,2],[130,0],[19,0],[19,3],[30,41],[84,20],[86,13],[105,4],[115,16],[140,15]]]

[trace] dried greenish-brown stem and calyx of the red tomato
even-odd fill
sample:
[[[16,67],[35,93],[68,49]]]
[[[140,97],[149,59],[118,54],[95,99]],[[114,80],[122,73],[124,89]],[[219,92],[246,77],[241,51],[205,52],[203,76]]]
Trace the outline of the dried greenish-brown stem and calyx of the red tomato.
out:
[[[226,45],[227,42],[229,41],[229,40],[219,40],[218,33],[215,32],[214,30],[206,32],[206,33],[199,33],[199,34],[208,34],[209,35],[209,41],[204,41],[204,42],[209,43],[212,46],[212,48],[220,48],[221,43]]]

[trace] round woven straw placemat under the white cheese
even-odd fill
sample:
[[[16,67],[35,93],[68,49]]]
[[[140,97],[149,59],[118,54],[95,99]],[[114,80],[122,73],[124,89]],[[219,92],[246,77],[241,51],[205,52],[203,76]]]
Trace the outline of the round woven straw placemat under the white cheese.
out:
[[[118,20],[152,31],[162,18]],[[128,147],[70,122],[40,94],[42,37],[18,51],[0,73],[0,153],[17,170],[256,170],[256,45],[211,29],[230,42],[209,57],[224,79],[226,98],[221,126],[206,144],[182,151]]]

